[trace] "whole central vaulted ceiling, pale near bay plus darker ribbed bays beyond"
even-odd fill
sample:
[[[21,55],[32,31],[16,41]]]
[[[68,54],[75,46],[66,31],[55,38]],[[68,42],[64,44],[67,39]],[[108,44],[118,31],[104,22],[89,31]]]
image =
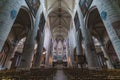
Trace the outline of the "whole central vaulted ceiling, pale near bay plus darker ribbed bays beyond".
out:
[[[76,0],[45,0],[51,32],[54,39],[64,39],[68,35],[71,14]]]

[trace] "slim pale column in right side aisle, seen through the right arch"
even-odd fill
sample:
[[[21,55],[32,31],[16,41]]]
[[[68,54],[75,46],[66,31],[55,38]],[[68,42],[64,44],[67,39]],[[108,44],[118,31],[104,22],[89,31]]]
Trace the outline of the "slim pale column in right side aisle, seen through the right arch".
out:
[[[114,69],[114,67],[113,67],[113,65],[112,65],[112,63],[110,61],[110,57],[108,56],[108,53],[107,53],[107,50],[105,48],[104,43],[101,42],[101,41],[99,41],[99,42],[100,42],[100,47],[101,47],[101,50],[103,51],[104,57],[107,58],[106,63],[107,63],[108,69]]]

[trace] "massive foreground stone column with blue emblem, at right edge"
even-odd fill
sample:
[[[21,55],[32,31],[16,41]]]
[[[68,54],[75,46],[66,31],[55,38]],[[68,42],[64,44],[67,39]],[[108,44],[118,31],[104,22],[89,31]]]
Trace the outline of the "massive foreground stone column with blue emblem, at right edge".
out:
[[[120,60],[120,8],[116,0],[94,0],[106,31]],[[99,3],[98,3],[99,1]]]

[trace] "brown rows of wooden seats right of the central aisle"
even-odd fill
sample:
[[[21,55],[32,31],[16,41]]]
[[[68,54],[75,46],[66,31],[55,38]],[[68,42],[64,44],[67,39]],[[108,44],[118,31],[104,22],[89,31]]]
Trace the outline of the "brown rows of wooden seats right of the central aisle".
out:
[[[68,80],[120,80],[120,70],[66,68]]]

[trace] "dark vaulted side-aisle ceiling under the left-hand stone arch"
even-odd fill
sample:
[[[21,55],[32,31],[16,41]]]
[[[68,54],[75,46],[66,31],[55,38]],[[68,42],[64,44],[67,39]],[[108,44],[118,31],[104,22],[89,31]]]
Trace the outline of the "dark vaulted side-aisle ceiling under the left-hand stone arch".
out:
[[[16,36],[19,36],[18,40],[21,40],[34,28],[33,16],[30,10],[21,6],[18,15],[15,19],[11,32],[15,32]],[[20,35],[19,35],[20,34]]]

